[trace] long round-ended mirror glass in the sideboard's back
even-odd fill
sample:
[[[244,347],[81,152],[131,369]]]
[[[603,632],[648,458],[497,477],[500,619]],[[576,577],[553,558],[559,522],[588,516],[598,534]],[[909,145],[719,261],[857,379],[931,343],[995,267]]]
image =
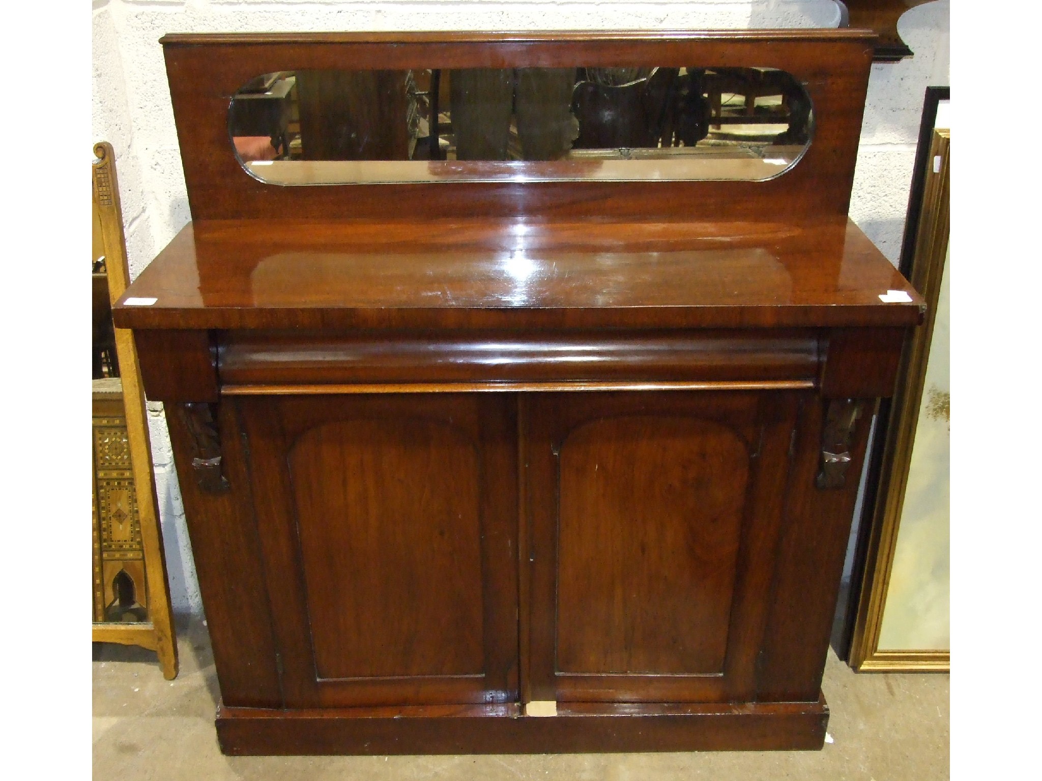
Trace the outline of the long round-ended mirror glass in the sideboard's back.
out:
[[[769,179],[813,122],[766,68],[281,71],[228,109],[237,157],[273,184]]]

